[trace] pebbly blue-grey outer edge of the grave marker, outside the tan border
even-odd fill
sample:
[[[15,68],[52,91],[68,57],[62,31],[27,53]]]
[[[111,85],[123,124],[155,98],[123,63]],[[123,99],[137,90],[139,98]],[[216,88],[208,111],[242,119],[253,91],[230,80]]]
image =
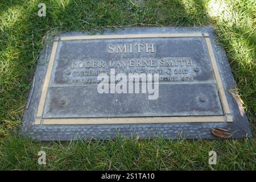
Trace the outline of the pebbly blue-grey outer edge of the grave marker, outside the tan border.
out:
[[[30,90],[29,105],[23,115],[23,124],[20,127],[20,134],[31,137],[34,140],[71,140],[80,138],[109,139],[115,138],[117,132],[123,136],[130,137],[131,134],[140,138],[163,135],[164,138],[179,138],[183,136],[188,139],[204,138],[214,139],[210,132],[213,127],[221,127],[234,132],[233,138],[250,137],[249,123],[244,114],[242,104],[237,96],[229,92],[236,89],[229,62],[224,50],[214,39],[213,28],[206,27],[148,27],[148,28],[118,28],[117,30],[105,30],[105,35],[113,34],[151,34],[151,33],[196,33],[204,32],[209,34],[210,41],[216,56],[217,66],[221,75],[226,98],[229,102],[233,122],[221,123],[154,123],[154,124],[119,124],[119,125],[34,125],[34,119],[38,108],[43,81],[46,75],[49,57],[54,38],[49,38],[48,45],[39,56],[38,65],[34,75],[33,88]],[[81,32],[68,32],[57,36],[78,36],[89,35]],[[97,33],[96,35],[101,35]],[[46,63],[45,63],[46,60]],[[237,110],[237,111],[236,111]]]

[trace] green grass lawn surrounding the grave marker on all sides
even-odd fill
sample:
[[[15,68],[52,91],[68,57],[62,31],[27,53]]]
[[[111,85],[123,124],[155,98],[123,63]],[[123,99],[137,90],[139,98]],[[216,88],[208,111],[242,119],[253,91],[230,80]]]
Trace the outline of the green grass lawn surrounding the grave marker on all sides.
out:
[[[36,61],[46,36],[63,31],[147,26],[212,24],[228,55],[251,130],[256,130],[254,0],[80,1],[46,3],[47,16],[37,15],[39,1],[0,2],[0,169],[251,169],[255,138],[241,140],[87,140],[32,142],[17,137]],[[47,165],[37,164],[39,150]],[[208,165],[208,152],[218,155]]]

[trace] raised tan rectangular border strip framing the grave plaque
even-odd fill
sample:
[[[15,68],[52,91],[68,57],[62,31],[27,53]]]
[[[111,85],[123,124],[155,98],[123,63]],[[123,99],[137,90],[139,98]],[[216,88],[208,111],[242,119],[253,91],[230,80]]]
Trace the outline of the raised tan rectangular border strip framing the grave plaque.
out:
[[[180,37],[201,37],[205,38],[208,48],[210,62],[212,64],[214,77],[217,84],[218,94],[224,115],[218,116],[185,116],[185,117],[115,117],[115,118],[42,118],[44,105],[46,102],[47,90],[51,79],[53,63],[57,51],[59,40],[92,40],[92,39],[129,39],[129,38],[180,38]],[[115,124],[115,123],[174,123],[174,122],[233,122],[230,115],[228,101],[226,100],[224,88],[221,82],[220,73],[216,59],[213,53],[212,44],[210,43],[208,33],[191,33],[191,34],[125,34],[125,35],[89,35],[89,36],[56,36],[53,43],[51,57],[46,72],[46,78],[43,84],[43,90],[40,97],[39,107],[36,114],[34,125],[89,125],[89,124]]]

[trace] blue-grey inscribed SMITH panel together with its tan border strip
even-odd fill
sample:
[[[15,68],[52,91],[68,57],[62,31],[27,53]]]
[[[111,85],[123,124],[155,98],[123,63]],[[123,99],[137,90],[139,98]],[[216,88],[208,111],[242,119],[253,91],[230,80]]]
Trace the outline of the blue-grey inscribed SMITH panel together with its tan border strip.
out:
[[[142,82],[139,93],[99,93],[97,77],[110,69],[158,73],[158,98],[149,100]],[[57,37],[36,119],[42,125],[233,121],[206,33]]]

